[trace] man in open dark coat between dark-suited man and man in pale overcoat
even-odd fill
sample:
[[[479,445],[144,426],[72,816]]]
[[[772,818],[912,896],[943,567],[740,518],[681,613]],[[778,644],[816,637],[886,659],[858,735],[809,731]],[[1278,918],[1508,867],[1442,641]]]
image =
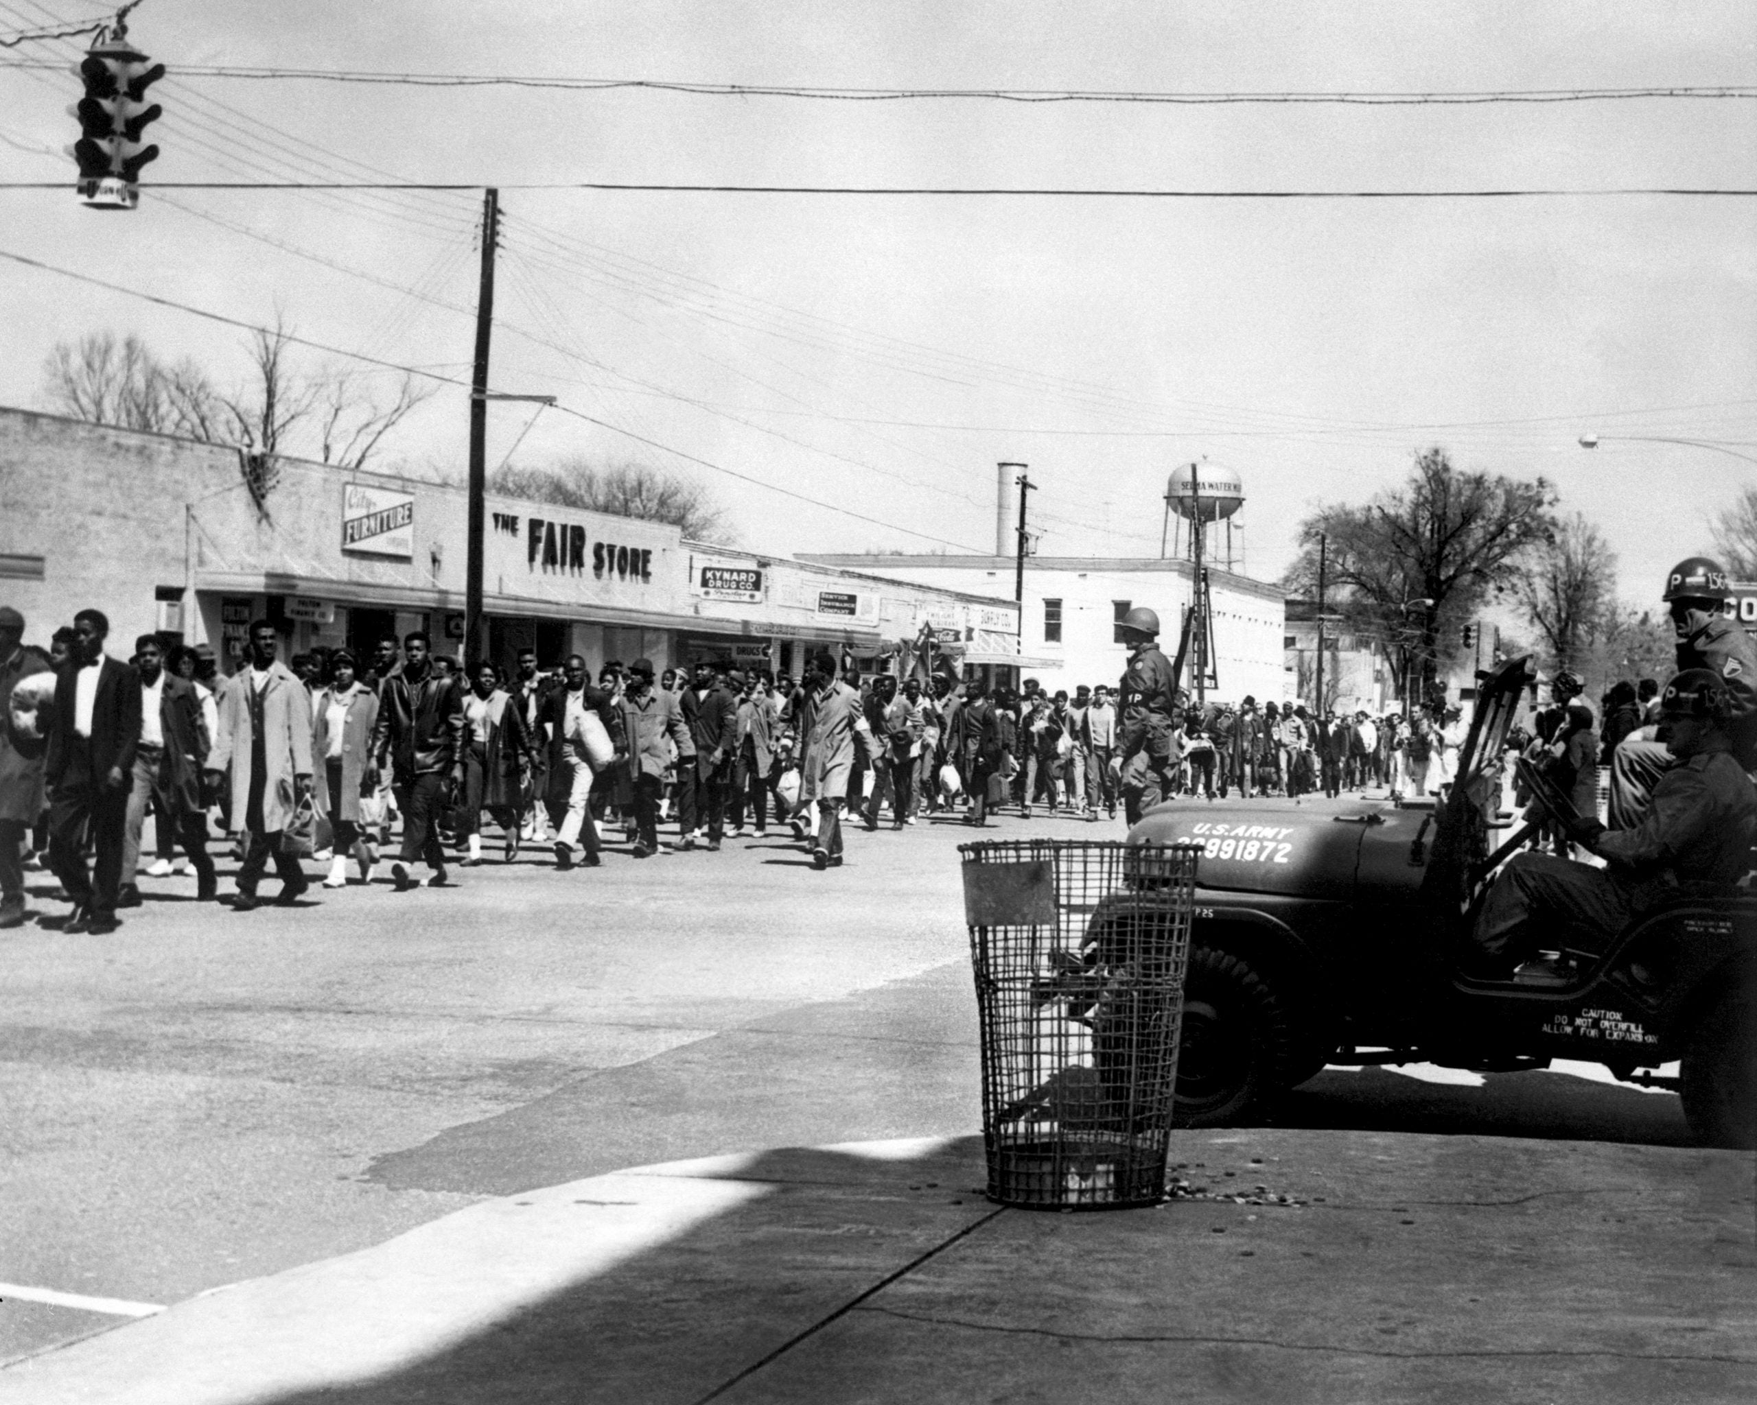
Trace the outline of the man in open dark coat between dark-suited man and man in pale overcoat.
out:
[[[197,875],[197,899],[211,903],[220,896],[220,880],[207,854],[207,811],[202,806],[202,766],[213,745],[207,724],[202,722],[202,704],[195,685],[165,667],[165,650],[156,634],[135,639],[134,660],[141,676],[141,745],[128,790],[119,906],[141,906],[135,869],[141,864],[148,801],[153,801],[153,808],[183,839],[183,850]]]

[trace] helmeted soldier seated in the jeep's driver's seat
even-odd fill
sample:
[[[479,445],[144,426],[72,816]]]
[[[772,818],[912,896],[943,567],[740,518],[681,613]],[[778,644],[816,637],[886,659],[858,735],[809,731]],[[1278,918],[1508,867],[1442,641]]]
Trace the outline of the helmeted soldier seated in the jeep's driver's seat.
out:
[[[1543,936],[1567,924],[1611,934],[1674,892],[1731,889],[1750,868],[1757,790],[1732,759],[1732,697],[1713,669],[1685,669],[1660,697],[1676,762],[1660,775],[1639,824],[1606,829],[1585,815],[1569,838],[1606,861],[1590,868],[1520,854],[1476,920],[1472,975],[1506,978]]]

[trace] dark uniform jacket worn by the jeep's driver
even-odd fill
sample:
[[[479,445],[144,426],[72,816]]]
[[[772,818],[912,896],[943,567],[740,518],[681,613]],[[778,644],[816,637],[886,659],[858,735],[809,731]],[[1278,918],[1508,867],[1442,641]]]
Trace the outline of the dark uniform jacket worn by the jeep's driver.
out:
[[[1757,836],[1757,790],[1727,752],[1704,752],[1673,766],[1653,787],[1634,829],[1609,829],[1597,843],[1615,876],[1729,885],[1750,868]]]

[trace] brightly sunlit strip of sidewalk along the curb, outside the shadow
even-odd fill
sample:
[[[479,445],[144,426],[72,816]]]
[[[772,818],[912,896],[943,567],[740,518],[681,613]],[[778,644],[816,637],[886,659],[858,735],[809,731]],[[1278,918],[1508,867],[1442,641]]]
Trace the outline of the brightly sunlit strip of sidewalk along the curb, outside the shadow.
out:
[[[891,1163],[956,1140],[799,1150]],[[381,1379],[773,1194],[784,1182],[747,1177],[773,1150],[501,1196],[369,1249],[209,1289],[16,1359],[0,1368],[0,1403],[244,1405]]]

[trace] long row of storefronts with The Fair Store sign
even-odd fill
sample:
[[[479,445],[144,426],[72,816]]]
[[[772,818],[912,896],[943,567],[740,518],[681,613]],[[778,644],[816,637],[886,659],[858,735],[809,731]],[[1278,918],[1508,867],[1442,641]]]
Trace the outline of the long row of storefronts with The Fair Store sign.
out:
[[[1012,599],[703,546],[662,522],[499,494],[485,506],[488,657],[508,666],[534,648],[594,673],[645,655],[798,674],[813,648],[891,666],[922,623],[956,630],[977,662],[1010,659],[1017,638]],[[371,653],[411,629],[457,653],[467,518],[457,485],[276,458],[253,494],[223,444],[0,406],[0,604],[35,645],[95,606],[121,657],[160,632],[235,659],[257,618],[290,653]]]

